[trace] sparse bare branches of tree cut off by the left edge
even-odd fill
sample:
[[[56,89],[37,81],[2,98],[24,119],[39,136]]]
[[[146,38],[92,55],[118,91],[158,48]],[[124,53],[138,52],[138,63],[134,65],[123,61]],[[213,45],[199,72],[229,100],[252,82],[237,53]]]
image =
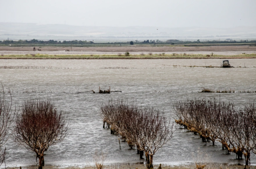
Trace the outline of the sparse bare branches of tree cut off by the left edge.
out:
[[[0,91],[0,166],[5,161],[5,149],[3,145],[10,138],[12,133],[9,133],[11,124],[15,113],[11,110],[12,97],[10,93],[10,101],[5,98],[5,91],[2,85],[2,92]],[[14,111],[15,112],[15,111]]]

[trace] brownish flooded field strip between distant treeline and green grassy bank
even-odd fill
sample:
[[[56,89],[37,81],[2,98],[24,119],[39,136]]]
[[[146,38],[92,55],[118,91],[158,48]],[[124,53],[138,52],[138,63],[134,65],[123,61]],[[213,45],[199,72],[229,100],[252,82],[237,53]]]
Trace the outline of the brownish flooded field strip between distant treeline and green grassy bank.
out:
[[[147,55],[152,54],[203,54],[210,55],[239,55],[242,53],[251,54],[256,53],[256,46],[117,46],[117,47],[55,47],[55,46],[40,46],[36,47],[13,47],[13,46],[0,46],[0,54],[3,55],[24,55],[24,54],[48,54],[48,55],[117,55],[117,53],[124,54],[130,52],[132,55],[140,55],[141,53]],[[66,52],[65,50],[70,51]]]

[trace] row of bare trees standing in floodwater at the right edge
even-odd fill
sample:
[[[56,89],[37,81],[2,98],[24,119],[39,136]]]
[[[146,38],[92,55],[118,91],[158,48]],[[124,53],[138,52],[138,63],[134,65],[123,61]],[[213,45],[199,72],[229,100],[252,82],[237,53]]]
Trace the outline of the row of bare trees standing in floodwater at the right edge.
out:
[[[175,122],[200,135],[203,142],[219,141],[227,153],[245,157],[250,164],[250,152],[256,154],[256,107],[254,103],[235,108],[233,103],[215,98],[187,99],[174,106]]]

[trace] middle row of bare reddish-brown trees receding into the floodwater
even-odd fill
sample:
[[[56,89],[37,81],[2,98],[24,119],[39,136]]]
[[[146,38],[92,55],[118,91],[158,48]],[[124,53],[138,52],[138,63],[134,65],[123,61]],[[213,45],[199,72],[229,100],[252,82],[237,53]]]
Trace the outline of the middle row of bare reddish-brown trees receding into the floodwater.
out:
[[[111,129],[137,148],[140,159],[145,152],[147,168],[153,168],[153,155],[173,136],[173,123],[163,110],[139,107],[135,102],[110,100],[100,105],[103,128]],[[120,139],[119,139],[120,141]]]

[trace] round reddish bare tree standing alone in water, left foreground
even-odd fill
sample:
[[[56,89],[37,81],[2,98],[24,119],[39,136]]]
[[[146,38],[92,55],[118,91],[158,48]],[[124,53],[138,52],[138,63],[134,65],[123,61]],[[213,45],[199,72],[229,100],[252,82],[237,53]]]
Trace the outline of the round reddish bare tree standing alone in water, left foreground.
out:
[[[69,122],[52,100],[27,100],[16,118],[15,137],[19,144],[36,152],[39,169],[44,166],[44,152],[67,136]]]

